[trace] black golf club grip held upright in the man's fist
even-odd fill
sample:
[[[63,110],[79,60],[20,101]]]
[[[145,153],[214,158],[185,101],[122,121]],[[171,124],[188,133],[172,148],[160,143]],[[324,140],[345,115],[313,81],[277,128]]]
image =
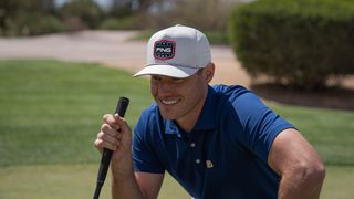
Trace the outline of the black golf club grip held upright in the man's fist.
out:
[[[116,106],[115,113],[117,113],[121,117],[124,117],[125,112],[128,107],[129,100],[127,97],[119,97],[118,104]],[[101,158],[101,164],[100,164],[100,169],[98,169],[98,175],[97,175],[97,185],[96,185],[96,190],[94,193],[94,199],[98,199],[101,188],[104,184],[104,180],[106,179],[107,170],[110,167],[111,158],[112,158],[113,151],[104,148],[102,158]]]

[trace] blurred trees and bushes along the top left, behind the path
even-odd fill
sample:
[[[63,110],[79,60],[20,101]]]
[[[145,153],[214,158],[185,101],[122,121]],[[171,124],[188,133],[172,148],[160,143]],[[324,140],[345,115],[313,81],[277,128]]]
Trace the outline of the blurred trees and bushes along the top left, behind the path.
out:
[[[238,0],[1,0],[0,35],[37,35],[84,29],[160,29],[184,23],[204,30],[226,30]]]

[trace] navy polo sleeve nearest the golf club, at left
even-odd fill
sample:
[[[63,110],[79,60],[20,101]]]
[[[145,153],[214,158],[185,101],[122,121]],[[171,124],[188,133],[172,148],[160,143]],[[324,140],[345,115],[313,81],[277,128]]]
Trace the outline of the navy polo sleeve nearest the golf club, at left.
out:
[[[153,147],[154,128],[147,125],[146,114],[142,115],[134,129],[133,137],[133,166],[135,171],[164,174],[165,168],[159,161]],[[157,134],[157,133],[155,133]]]

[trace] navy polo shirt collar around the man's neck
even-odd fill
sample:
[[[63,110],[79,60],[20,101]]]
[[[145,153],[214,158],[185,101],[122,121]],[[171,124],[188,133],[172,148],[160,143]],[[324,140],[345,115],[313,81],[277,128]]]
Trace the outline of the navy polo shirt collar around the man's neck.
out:
[[[196,125],[192,128],[192,132],[199,130],[212,130],[217,126],[217,93],[216,91],[209,85],[208,86],[208,94],[199,118]],[[166,134],[178,134],[179,128],[175,121],[164,119],[165,121],[165,133]]]

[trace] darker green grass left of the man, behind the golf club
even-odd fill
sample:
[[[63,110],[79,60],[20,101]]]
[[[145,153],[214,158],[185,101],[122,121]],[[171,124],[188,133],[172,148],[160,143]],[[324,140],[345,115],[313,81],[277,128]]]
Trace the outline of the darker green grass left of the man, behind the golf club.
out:
[[[118,96],[131,98],[131,123],[152,102],[146,80],[95,64],[1,61],[0,85],[0,166],[94,163]]]

